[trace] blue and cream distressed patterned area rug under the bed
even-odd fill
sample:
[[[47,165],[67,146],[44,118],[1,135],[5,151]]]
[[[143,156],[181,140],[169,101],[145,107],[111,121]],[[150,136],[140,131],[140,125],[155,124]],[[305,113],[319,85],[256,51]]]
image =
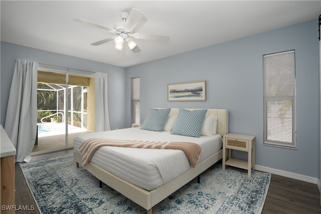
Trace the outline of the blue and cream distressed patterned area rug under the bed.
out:
[[[103,184],[73,154],[20,163],[42,213],[146,213],[146,210]],[[153,213],[261,213],[271,174],[227,167],[222,162],[156,204]]]

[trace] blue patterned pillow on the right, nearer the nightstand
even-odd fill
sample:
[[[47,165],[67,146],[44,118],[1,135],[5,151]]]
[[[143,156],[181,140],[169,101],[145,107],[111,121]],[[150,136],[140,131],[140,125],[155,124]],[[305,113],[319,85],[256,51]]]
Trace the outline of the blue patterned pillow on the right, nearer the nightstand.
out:
[[[171,134],[199,138],[207,109],[189,111],[180,109]]]

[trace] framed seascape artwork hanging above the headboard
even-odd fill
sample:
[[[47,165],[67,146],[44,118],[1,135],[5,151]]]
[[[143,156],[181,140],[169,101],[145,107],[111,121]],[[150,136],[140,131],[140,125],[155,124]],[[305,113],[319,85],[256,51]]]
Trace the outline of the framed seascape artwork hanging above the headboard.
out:
[[[206,81],[182,82],[167,85],[168,101],[205,101]]]

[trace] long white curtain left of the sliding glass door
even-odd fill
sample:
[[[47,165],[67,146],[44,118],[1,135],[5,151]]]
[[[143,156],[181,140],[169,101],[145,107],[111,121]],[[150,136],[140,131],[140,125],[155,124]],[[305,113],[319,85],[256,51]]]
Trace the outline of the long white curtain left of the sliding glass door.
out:
[[[11,83],[5,131],[17,150],[17,162],[28,162],[37,135],[38,63],[17,60]]]

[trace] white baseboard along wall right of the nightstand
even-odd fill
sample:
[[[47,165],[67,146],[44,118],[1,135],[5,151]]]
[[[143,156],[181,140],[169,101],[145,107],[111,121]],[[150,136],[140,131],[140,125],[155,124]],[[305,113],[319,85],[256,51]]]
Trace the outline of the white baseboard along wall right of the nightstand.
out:
[[[317,184],[319,191],[321,192],[321,185],[320,185],[320,182],[317,178],[306,176],[306,175],[301,175],[301,174],[296,174],[293,172],[287,172],[287,171],[283,171],[283,170],[279,170],[279,169],[273,169],[273,168],[260,166],[260,165],[255,165],[255,170],[262,171],[262,172],[268,172],[268,173],[272,173],[275,175],[281,175],[283,177],[293,178],[293,179],[305,181],[308,183]]]

